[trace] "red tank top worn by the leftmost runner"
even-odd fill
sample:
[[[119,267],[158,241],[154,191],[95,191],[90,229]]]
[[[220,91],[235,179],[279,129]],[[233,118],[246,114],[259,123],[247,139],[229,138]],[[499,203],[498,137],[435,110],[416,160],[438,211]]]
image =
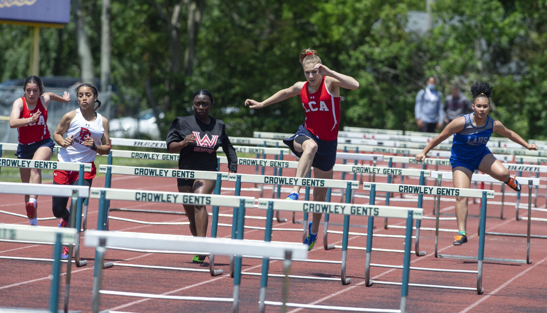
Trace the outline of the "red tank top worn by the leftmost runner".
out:
[[[32,124],[26,126],[18,127],[19,132],[19,143],[22,144],[31,144],[38,142],[40,140],[48,139],[49,130],[48,130],[48,111],[42,105],[40,97],[38,97],[38,103],[36,103],[36,108],[30,111],[27,107],[27,101],[25,97],[21,97],[23,100],[23,110],[19,114],[19,118],[30,118],[32,114],[36,113],[38,109],[40,110],[40,116],[38,120]]]

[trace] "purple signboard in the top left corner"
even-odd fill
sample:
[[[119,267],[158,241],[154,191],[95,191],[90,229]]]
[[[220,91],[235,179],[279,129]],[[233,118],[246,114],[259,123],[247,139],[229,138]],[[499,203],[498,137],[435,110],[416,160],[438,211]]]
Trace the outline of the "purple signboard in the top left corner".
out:
[[[0,0],[0,20],[67,24],[70,0]]]

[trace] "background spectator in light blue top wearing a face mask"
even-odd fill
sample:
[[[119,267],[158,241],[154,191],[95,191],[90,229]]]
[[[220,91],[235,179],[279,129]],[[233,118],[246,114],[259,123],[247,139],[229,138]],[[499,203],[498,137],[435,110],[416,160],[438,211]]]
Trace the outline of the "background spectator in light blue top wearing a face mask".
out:
[[[414,106],[416,124],[422,132],[434,132],[435,126],[443,129],[443,95],[435,89],[435,78],[427,79],[426,88],[418,91]]]

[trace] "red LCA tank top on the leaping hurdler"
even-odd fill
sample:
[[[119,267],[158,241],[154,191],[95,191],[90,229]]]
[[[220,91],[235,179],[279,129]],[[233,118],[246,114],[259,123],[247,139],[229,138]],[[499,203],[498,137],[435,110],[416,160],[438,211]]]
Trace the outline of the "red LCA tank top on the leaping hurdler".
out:
[[[330,94],[325,87],[325,77],[313,94],[308,91],[307,85],[308,82],[305,82],[300,90],[300,99],[306,111],[304,126],[318,139],[336,140],[340,125],[340,97]]]

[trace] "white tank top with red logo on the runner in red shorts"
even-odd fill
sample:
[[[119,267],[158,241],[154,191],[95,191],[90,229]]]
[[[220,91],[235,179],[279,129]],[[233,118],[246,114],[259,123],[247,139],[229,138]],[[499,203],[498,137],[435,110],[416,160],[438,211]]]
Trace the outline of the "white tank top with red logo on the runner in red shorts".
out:
[[[97,113],[94,121],[88,121],[82,116],[80,108],[76,109],[76,115],[68,125],[67,136],[74,135],[73,143],[68,148],[61,148],[57,159],[62,162],[91,163],[95,161],[97,152],[84,146],[85,138],[90,136],[97,146],[101,146],[101,138],[104,134],[102,115]]]

